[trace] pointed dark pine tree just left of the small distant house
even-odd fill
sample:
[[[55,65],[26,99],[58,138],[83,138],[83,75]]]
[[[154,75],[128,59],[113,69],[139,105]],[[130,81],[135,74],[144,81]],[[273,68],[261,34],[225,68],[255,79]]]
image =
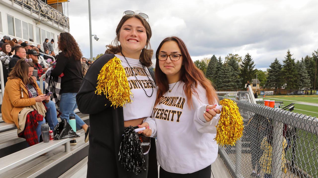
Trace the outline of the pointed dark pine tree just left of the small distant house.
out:
[[[240,74],[240,77],[241,79],[243,80],[243,84],[244,82],[247,82],[247,81],[252,81],[252,78],[253,76],[255,75],[255,64],[254,64],[254,61],[252,59],[252,56],[247,53],[242,61],[242,64],[240,65],[241,66],[241,74]],[[244,86],[242,85],[242,88]]]

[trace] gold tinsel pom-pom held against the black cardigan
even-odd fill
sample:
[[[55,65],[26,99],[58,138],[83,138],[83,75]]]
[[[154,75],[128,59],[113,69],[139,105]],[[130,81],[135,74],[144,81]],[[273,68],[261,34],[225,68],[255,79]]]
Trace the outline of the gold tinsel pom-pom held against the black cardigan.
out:
[[[130,88],[121,60],[117,57],[109,60],[100,70],[97,78],[97,86],[95,93],[102,93],[114,105],[114,108],[123,107],[127,103],[131,103]]]

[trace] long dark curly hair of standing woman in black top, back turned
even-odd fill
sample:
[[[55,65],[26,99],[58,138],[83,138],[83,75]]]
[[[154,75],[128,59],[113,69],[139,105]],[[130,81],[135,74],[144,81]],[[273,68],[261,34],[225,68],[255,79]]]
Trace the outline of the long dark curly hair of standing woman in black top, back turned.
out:
[[[79,45],[74,37],[68,32],[60,33],[59,50],[64,52],[66,57],[74,56],[75,60],[80,60],[83,56],[79,49]]]

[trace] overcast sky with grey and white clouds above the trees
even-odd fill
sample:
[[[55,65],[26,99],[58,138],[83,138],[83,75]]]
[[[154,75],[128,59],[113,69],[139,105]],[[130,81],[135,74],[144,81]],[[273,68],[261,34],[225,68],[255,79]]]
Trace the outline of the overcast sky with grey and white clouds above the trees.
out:
[[[192,60],[248,52],[255,67],[266,70],[275,58],[282,63],[288,49],[296,60],[318,49],[317,9],[317,0],[91,0],[92,34],[99,38],[93,56],[114,40],[123,12],[139,10],[149,16],[154,51],[174,35]],[[88,1],[70,0],[68,11],[70,32],[89,58]]]

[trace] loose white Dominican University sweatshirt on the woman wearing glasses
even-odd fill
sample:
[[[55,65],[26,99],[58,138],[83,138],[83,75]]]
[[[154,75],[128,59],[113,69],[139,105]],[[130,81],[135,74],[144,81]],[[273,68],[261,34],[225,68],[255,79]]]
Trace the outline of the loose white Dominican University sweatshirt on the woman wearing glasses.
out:
[[[169,84],[169,89],[174,84]],[[157,136],[158,163],[164,170],[179,174],[206,168],[218,156],[218,145],[213,139],[219,114],[206,122],[203,114],[208,100],[206,90],[199,85],[199,97],[192,94],[193,107],[189,109],[183,85],[177,82],[154,107],[151,118],[144,120],[153,131],[151,137]]]

